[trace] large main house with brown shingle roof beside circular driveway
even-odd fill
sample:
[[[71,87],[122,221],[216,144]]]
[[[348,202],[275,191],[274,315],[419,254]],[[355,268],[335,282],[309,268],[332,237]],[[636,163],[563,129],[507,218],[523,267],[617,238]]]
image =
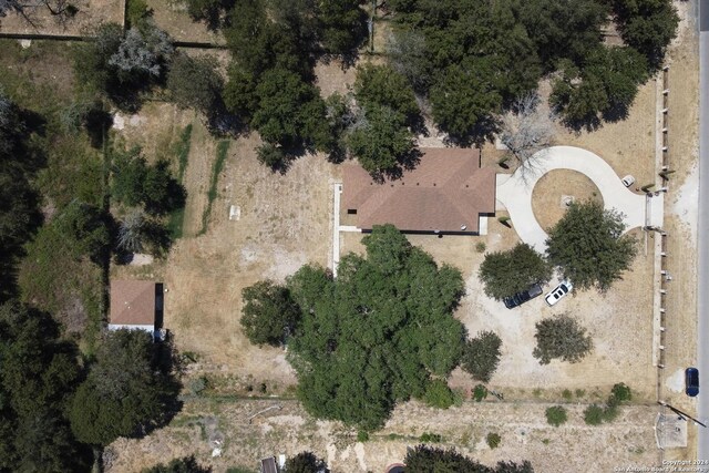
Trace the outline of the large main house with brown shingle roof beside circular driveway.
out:
[[[495,169],[480,150],[422,148],[401,178],[376,182],[358,164],[343,169],[341,208],[362,232],[392,224],[412,234],[484,235],[495,213]]]

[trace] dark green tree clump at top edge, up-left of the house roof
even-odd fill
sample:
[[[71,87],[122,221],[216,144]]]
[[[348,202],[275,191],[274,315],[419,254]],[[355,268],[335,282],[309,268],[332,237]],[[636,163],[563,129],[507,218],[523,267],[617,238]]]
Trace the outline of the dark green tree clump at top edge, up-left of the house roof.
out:
[[[338,145],[343,130],[332,127],[328,120],[320,90],[314,84],[314,68],[323,54],[351,63],[367,34],[361,2],[189,3],[199,10],[208,7],[208,14],[197,12],[201,18],[224,18],[220,23],[233,58],[224,103],[267,142],[258,151],[259,161],[284,171],[292,157],[305,152],[341,157]],[[225,17],[219,13],[222,8],[228,10]]]

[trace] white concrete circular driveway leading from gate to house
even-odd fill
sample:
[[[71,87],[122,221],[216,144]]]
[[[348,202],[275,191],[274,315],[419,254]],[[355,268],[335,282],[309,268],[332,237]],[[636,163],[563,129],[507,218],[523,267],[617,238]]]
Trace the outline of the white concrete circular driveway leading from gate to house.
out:
[[[547,147],[534,154],[530,164],[514,174],[497,174],[497,203],[510,213],[520,238],[537,251],[546,249],[547,235],[532,210],[532,192],[540,178],[553,169],[576,171],[592,179],[605,207],[624,214],[626,232],[655,225],[653,220],[661,218],[664,193],[651,198],[635,194],[623,185],[620,176],[608,163],[589,151],[574,146]]]

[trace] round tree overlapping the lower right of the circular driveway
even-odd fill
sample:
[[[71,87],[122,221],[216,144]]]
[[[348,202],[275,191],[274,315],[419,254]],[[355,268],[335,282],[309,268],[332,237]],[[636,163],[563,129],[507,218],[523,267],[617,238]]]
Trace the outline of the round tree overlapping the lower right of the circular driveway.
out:
[[[637,254],[636,239],[623,235],[624,229],[618,212],[593,200],[575,202],[548,230],[548,260],[575,288],[607,290]]]

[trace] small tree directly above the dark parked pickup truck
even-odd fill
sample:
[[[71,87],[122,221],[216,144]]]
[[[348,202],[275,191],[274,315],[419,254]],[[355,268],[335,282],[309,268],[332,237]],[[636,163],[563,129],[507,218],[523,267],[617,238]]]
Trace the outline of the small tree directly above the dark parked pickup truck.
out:
[[[548,282],[552,265],[530,245],[520,243],[507,251],[486,254],[479,277],[485,294],[502,300],[527,290],[535,282]]]

